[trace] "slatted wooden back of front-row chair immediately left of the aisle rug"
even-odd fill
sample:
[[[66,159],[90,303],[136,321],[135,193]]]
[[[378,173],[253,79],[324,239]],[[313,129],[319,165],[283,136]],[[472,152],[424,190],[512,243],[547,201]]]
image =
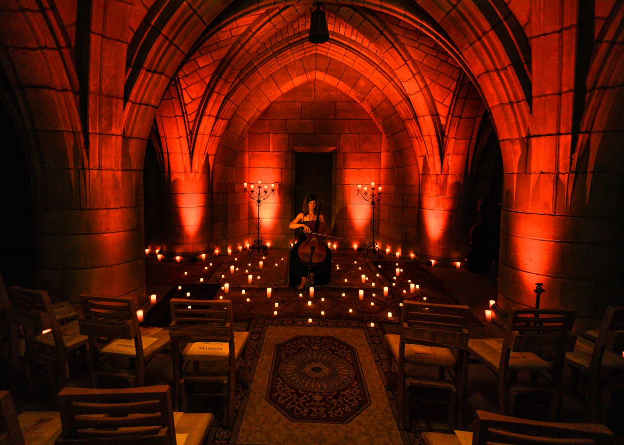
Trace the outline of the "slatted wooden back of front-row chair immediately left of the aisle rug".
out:
[[[171,341],[182,350],[186,343],[228,343],[235,351],[233,310],[231,300],[171,299]],[[230,367],[236,363],[234,353],[228,354]]]

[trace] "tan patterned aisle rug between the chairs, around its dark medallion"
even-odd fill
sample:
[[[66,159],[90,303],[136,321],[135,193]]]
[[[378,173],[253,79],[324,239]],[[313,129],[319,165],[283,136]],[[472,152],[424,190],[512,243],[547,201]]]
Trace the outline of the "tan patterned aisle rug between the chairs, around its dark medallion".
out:
[[[349,320],[315,320],[310,325],[301,318],[262,318],[251,322],[250,332],[251,340],[248,348],[253,357],[251,369],[253,382],[246,391],[241,385],[237,385],[235,424],[230,431],[217,428],[212,444],[421,444],[416,430],[402,432],[397,429],[396,398],[394,392],[386,390],[384,386],[383,366],[386,356],[382,343],[383,332],[379,328],[370,328],[361,322]],[[330,351],[344,349],[339,356],[342,360],[352,360],[353,363],[346,365],[343,361],[338,365],[336,358],[323,360],[333,361],[336,368],[342,368],[342,371],[339,371],[343,374],[341,378],[327,380],[319,378],[328,372],[324,365],[319,365],[319,369],[313,370],[312,368],[316,366],[310,366],[311,360],[300,360],[296,357],[297,352],[306,350],[302,345],[303,338],[306,337],[309,340],[307,350],[314,350],[310,348],[312,346],[310,341],[318,342],[319,346],[323,344]],[[273,361],[276,353],[284,360]],[[300,418],[292,419],[283,412],[283,409],[276,408],[275,404],[269,401],[271,393],[291,391],[286,386],[276,390],[278,385],[274,376],[278,373],[280,364],[286,364],[285,368],[290,367],[282,373],[290,375],[291,381],[288,385],[292,385],[292,388],[299,387],[300,391],[301,388],[307,388],[310,395],[314,394],[314,391],[310,391],[311,388],[317,390],[325,388],[335,394],[340,392],[338,388],[348,386],[353,388],[351,378],[346,377],[344,370],[349,367],[354,369],[354,360],[359,363],[361,375],[358,379],[361,378],[360,385],[366,390],[369,401],[356,403],[357,408],[354,409],[358,409],[358,413],[352,416],[346,416],[339,409],[332,411],[323,408],[321,411],[324,415],[331,416],[336,421],[319,421],[318,410],[311,409],[306,412],[305,409],[296,409],[295,413]],[[291,366],[295,361],[299,363]],[[296,377],[298,372],[295,369],[298,365],[303,365],[300,369],[308,367]],[[314,377],[314,373],[316,378],[310,378]],[[302,383],[302,380],[307,382]],[[319,393],[323,394],[322,391]],[[328,398],[319,397],[319,393],[316,393],[319,403],[326,402]],[[341,406],[353,404],[349,400],[350,397],[348,391],[343,391],[343,395],[339,396],[339,404]],[[357,399],[362,398],[358,396]],[[312,400],[311,404],[313,403]]]

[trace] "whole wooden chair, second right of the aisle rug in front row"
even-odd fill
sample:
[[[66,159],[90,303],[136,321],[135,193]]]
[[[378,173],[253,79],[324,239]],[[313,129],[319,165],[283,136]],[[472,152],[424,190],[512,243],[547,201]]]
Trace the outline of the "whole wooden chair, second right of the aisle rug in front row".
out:
[[[572,310],[522,309],[510,313],[504,338],[471,338],[468,352],[498,376],[499,409],[513,414],[517,393],[546,393],[550,418],[558,414],[565,353],[574,348]],[[519,381],[518,373],[530,374]],[[512,397],[510,397],[512,393]]]

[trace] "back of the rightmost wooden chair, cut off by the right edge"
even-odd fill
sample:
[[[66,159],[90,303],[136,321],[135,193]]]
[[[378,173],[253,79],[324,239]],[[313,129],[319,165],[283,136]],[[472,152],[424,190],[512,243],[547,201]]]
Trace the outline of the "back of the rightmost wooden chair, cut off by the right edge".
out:
[[[624,350],[624,307],[610,306],[600,323],[598,338],[590,361],[590,378],[598,381],[605,351],[622,353]]]

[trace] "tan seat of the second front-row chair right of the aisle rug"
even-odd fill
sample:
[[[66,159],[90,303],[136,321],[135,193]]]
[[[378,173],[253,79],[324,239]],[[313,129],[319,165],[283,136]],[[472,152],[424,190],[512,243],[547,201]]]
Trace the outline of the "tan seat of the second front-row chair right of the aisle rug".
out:
[[[502,338],[471,338],[468,340],[469,353],[484,359],[496,370],[499,369],[502,347]],[[532,352],[511,352],[509,355],[510,371],[547,371],[550,369],[552,369],[552,363]]]

